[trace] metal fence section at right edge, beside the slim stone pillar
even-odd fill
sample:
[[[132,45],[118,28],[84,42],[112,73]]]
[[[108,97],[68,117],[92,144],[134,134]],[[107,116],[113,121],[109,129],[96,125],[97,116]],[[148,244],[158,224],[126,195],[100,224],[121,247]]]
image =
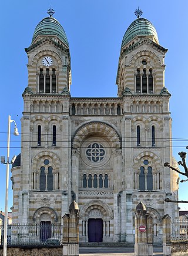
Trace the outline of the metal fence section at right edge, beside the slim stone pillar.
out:
[[[188,221],[185,219],[171,220],[171,241],[188,241]]]

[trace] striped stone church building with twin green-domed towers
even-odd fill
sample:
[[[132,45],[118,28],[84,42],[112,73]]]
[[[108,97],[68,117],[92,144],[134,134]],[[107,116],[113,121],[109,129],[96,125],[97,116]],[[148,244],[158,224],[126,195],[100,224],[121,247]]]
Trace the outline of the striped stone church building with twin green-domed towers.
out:
[[[32,33],[32,32],[31,32]],[[80,242],[133,242],[139,201],[162,241],[177,217],[170,94],[155,27],[137,15],[120,47],[117,97],[73,98],[68,39],[50,15],[33,32],[23,88],[21,154],[12,165],[13,223],[57,223],[79,206]],[[74,71],[72,71],[74,72]]]

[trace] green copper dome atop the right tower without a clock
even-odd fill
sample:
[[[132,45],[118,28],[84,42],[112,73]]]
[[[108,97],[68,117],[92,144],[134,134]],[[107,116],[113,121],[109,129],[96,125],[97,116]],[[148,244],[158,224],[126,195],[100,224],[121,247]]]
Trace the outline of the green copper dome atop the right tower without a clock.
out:
[[[122,47],[130,42],[136,35],[154,35],[156,42],[159,43],[157,31],[150,21],[144,18],[137,18],[130,24],[122,40]]]

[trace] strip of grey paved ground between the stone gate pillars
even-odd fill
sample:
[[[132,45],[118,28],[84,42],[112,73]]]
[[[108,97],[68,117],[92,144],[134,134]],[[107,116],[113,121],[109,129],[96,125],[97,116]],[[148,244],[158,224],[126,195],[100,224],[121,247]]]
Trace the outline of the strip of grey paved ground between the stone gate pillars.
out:
[[[134,256],[133,247],[80,247],[79,256]],[[163,248],[153,248],[153,255],[162,256]]]

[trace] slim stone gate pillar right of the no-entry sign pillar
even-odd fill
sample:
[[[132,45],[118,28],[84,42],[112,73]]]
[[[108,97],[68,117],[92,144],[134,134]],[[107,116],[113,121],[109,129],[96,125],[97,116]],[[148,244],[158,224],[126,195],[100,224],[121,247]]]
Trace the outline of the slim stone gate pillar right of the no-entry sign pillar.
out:
[[[170,216],[168,214],[163,217],[163,256],[171,255],[171,229],[170,229]]]

